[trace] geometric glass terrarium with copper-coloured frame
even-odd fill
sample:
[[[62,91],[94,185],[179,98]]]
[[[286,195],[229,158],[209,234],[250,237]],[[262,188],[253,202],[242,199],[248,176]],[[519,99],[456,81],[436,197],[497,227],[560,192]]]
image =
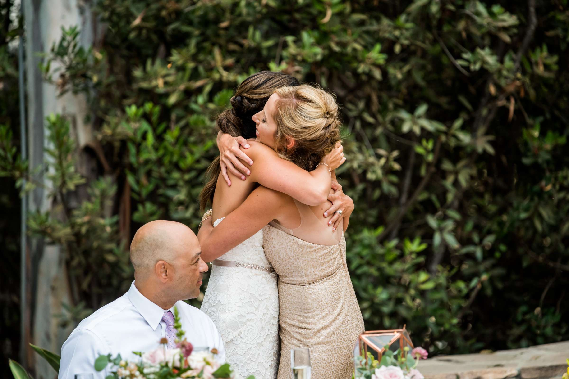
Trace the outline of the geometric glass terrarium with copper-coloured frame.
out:
[[[405,347],[413,349],[413,342],[411,342],[411,337],[409,332],[407,332],[405,326],[402,329],[393,330],[372,330],[360,334],[359,339],[359,353],[358,355],[368,356],[368,351],[378,360],[381,361],[381,357],[388,348],[391,351],[396,351],[399,349],[400,353],[405,352]]]

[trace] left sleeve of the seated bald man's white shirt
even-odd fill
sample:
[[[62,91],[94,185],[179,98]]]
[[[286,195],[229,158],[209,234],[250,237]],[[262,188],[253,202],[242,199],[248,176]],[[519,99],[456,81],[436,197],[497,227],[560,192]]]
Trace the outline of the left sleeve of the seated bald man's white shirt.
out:
[[[76,330],[61,347],[58,379],[75,379],[75,374],[90,373],[94,379],[104,379],[108,370],[97,372],[94,364],[100,355],[109,353],[109,347],[92,331]]]

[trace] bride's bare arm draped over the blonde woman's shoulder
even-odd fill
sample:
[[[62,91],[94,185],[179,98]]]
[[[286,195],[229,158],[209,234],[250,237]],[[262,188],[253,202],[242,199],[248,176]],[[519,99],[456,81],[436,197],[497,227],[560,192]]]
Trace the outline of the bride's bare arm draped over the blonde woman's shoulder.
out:
[[[330,192],[332,178],[330,170],[344,163],[341,144],[324,157],[315,170],[308,172],[294,163],[281,159],[277,153],[261,143],[251,142],[249,156],[256,162],[251,167],[251,180],[262,186],[285,193],[306,205],[324,203]]]

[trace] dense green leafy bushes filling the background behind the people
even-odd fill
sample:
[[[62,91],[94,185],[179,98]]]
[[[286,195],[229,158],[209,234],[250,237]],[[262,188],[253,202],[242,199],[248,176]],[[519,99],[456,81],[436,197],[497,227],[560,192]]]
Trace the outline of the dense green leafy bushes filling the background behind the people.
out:
[[[567,6],[100,0],[101,47],[85,51],[67,30],[43,71],[62,93],[88,91],[98,172],[111,179],[75,178],[89,201],[64,222],[30,223],[73,244],[76,300],[101,305],[92,288],[117,295],[130,274],[119,241],[157,218],[197,226],[213,120],[232,89],[282,70],[343,106],[339,176],[356,204],[348,264],[368,330],[406,323],[433,353],[567,339]],[[50,61],[67,65],[63,78]],[[106,267],[97,277],[93,263]]]

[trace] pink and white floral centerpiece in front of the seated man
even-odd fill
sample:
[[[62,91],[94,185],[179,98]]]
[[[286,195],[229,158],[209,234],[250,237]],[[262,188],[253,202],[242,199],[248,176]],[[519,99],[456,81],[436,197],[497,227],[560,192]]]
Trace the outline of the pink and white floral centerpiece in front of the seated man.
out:
[[[230,379],[233,378],[229,363],[220,363],[216,359],[217,350],[194,349],[184,338],[178,309],[174,307],[174,328],[176,330],[176,348],[168,349],[168,340],[160,340],[160,347],[154,351],[134,352],[141,357],[138,363],[116,357],[101,355],[95,361],[95,369],[102,371],[110,365],[112,373],[105,379]],[[247,379],[255,379],[250,376]]]

